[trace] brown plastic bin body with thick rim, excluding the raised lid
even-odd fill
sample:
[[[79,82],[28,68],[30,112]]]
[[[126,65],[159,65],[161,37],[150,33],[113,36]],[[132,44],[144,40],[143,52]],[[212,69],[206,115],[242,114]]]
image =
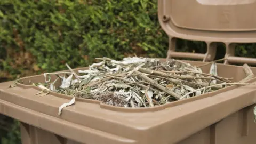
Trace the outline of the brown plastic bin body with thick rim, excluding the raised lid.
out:
[[[202,67],[205,73],[209,69]],[[251,69],[255,74],[256,68]],[[242,66],[225,64],[218,64],[218,75],[235,82],[246,76]],[[58,107],[69,96],[36,95],[40,90],[29,83],[44,82],[43,75],[21,80],[23,84],[12,88],[13,82],[0,83],[0,113],[22,122],[23,143],[254,143],[254,85],[229,86],[153,108],[120,108],[77,98],[59,116]]]

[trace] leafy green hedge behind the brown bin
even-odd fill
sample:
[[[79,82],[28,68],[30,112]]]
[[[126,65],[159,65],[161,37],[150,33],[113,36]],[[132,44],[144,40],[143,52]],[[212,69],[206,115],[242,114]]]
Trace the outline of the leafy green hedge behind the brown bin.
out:
[[[166,57],[168,37],[156,0],[1,0],[0,82],[90,65],[95,57]],[[256,44],[236,55],[255,58]],[[178,40],[178,51],[205,53],[203,42]],[[215,59],[223,58],[218,44]],[[19,122],[0,117],[1,143],[20,143]]]

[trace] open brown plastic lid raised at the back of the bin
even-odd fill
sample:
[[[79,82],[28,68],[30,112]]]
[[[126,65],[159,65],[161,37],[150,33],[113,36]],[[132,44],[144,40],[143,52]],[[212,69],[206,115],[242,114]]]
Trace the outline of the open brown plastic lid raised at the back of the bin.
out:
[[[256,0],[158,0],[158,20],[171,37],[255,42]]]

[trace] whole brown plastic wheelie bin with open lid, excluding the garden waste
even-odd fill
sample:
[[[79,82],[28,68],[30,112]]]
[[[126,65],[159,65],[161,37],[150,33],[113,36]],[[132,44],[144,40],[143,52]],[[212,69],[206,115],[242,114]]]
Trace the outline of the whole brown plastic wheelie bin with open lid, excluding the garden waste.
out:
[[[216,42],[227,46],[225,63],[217,64],[218,75],[246,77],[242,66],[231,63],[255,63],[255,59],[234,55],[235,43],[256,41],[256,1],[159,0],[158,17],[170,37],[168,58],[194,58],[186,61],[202,65],[215,57]],[[207,53],[175,52],[176,38],[205,41]],[[163,59],[165,60],[165,59]],[[79,69],[88,69],[79,68]],[[208,73],[210,66],[202,68]],[[74,69],[77,71],[78,69]],[[256,68],[251,67],[256,74]],[[256,86],[228,86],[189,99],[151,108],[122,108],[100,101],[77,98],[73,106],[58,115],[58,108],[71,98],[41,91],[29,85],[44,82],[36,75],[20,79],[23,83],[0,83],[0,113],[21,122],[23,144],[241,144],[255,143],[256,124],[253,108]],[[255,83],[256,78],[246,83]]]

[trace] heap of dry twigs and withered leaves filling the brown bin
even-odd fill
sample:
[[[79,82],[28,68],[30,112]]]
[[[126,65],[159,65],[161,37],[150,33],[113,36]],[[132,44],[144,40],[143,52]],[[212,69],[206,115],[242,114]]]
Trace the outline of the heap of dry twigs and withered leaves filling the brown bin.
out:
[[[45,73],[45,83],[35,85],[48,92],[99,100],[118,107],[154,107],[229,85],[249,85],[218,76],[215,63],[206,74],[196,66],[174,59],[164,62],[137,57],[123,61],[97,59],[99,63],[93,63],[88,70],[79,70],[78,73],[68,65],[69,73]],[[51,75],[58,78],[50,82]],[[61,79],[61,84],[55,87],[58,79]]]

